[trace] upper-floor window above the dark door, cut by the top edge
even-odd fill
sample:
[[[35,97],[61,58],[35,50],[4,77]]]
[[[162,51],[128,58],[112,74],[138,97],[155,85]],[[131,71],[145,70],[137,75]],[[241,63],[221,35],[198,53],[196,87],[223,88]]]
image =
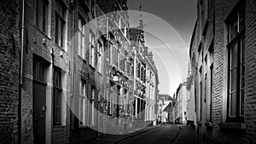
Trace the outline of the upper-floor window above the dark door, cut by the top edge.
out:
[[[48,4],[48,0],[36,0],[36,25],[44,33],[47,33]]]

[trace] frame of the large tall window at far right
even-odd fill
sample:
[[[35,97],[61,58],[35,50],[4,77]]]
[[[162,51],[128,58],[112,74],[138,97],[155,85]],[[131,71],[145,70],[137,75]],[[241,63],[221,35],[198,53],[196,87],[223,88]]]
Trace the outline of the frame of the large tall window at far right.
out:
[[[228,92],[227,92],[227,122],[230,123],[234,123],[234,122],[238,122],[238,123],[243,123],[244,122],[244,111],[243,114],[241,114],[241,108],[244,106],[241,106],[241,102],[244,103],[244,100],[241,100],[241,90],[244,90],[244,87],[241,88],[241,71],[244,70],[242,69],[242,65],[244,65],[244,61],[241,61],[241,50],[245,50],[245,46],[241,45],[244,44],[245,41],[245,9],[244,7],[241,7],[239,9],[234,9],[235,12],[231,13],[233,16],[229,17],[228,20],[226,20],[226,24],[228,26],[228,44],[227,44],[227,49],[228,49]],[[244,21],[240,21],[240,17],[243,17]],[[236,36],[233,37],[231,39],[230,37],[230,22],[232,22],[234,19],[238,19],[237,22],[237,32],[236,32]],[[240,27],[240,24],[242,22],[242,30]],[[237,60],[236,60],[236,114],[234,116],[231,116],[231,101],[230,101],[230,95],[232,94],[232,92],[230,91],[231,88],[231,83],[232,83],[232,73],[231,71],[233,70],[234,67],[232,66],[232,54],[231,54],[231,49],[236,48],[237,50]],[[244,55],[243,55],[244,56]],[[243,99],[244,99],[244,94],[243,94]]]

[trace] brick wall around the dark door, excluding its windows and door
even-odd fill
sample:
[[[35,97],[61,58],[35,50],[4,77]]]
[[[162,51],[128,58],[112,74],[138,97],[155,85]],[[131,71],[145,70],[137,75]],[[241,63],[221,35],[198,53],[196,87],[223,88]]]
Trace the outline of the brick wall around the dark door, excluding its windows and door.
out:
[[[66,0],[63,0],[68,7]],[[65,49],[62,49],[55,43],[55,5],[56,1],[49,1],[49,17],[47,32],[42,32],[36,26],[36,7],[34,0],[26,0],[25,4],[25,53],[24,53],[24,74],[22,85],[22,143],[33,143],[33,95],[32,95],[32,72],[33,58],[40,57],[48,62],[46,67],[46,97],[45,105],[45,141],[46,143],[69,143],[69,103],[70,97],[70,74],[68,61],[71,59],[72,49],[68,43],[65,43]],[[67,9],[67,27],[70,26],[69,14]],[[66,28],[66,32],[69,29]],[[44,43],[45,42],[45,43]],[[54,61],[52,57],[54,54]],[[61,55],[62,54],[62,55]],[[62,79],[62,102],[61,102],[61,125],[53,126],[53,67],[61,68]],[[67,98],[67,99],[65,99]]]

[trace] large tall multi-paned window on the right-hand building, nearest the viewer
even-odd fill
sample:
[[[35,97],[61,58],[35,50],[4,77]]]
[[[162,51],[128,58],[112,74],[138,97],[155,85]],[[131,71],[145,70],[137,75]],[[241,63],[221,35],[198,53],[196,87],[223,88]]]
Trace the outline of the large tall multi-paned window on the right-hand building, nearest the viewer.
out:
[[[236,12],[234,17],[228,21],[229,27],[229,97],[228,118],[230,122],[243,121],[244,115],[244,89],[245,89],[245,59],[244,59],[244,9]]]

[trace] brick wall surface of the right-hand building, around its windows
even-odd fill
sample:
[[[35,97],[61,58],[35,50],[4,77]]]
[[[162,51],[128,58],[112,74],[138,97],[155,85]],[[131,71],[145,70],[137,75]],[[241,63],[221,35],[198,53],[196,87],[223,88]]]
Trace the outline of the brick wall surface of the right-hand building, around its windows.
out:
[[[199,1],[200,2],[200,1]],[[242,1],[241,1],[242,2]],[[207,121],[207,115],[202,115],[201,126],[199,127],[199,132],[197,135],[197,141],[200,143],[255,143],[255,108],[253,104],[255,103],[255,19],[256,15],[254,13],[256,4],[254,1],[247,0],[246,3],[246,32],[245,32],[245,50],[246,50],[246,62],[245,62],[245,71],[246,71],[246,94],[245,94],[245,117],[244,123],[236,123],[238,125],[246,125],[246,130],[242,129],[234,129],[234,127],[230,127],[229,129],[224,128],[222,125],[230,125],[226,123],[227,121],[227,103],[228,103],[228,48],[227,48],[227,26],[225,20],[231,14],[231,11],[236,8],[239,3],[239,0],[216,0],[214,3],[211,3],[210,9],[212,9],[215,14],[213,23],[213,85],[212,85],[212,126],[207,126],[204,122]],[[199,7],[199,11],[201,11]],[[213,19],[213,20],[214,20]],[[198,20],[201,21],[201,13],[198,13]],[[203,40],[203,53],[197,53],[195,43],[201,42],[201,26],[202,24],[197,24],[197,31],[195,32],[195,36],[191,41],[190,48],[190,59],[192,60],[192,70],[195,68],[196,71],[202,66],[202,73],[207,72],[207,69],[204,67],[202,59],[205,59],[207,56],[207,47],[211,44],[211,37],[204,37]],[[200,31],[198,31],[200,30]],[[207,30],[207,33],[211,33],[211,29]],[[195,54],[195,58],[194,57]],[[204,55],[201,55],[204,54]],[[208,60],[208,59],[207,59]],[[194,65],[194,66],[193,66]],[[200,75],[196,75],[195,71],[192,71],[195,75],[195,87],[197,102],[196,104],[196,112],[197,117],[207,112],[201,111],[201,107],[207,108],[207,105],[200,105],[201,99],[199,88]],[[202,76],[204,79],[204,76]],[[202,88],[209,90],[207,84],[202,84]],[[204,92],[202,95],[205,95]],[[197,118],[199,119],[199,118]]]

